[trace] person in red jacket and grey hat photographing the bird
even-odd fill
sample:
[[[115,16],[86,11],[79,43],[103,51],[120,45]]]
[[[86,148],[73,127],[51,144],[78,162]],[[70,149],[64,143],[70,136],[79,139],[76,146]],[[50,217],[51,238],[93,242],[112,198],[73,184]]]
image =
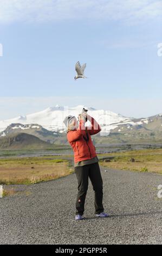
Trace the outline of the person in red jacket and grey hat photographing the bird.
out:
[[[108,217],[108,214],[103,211],[103,181],[98,163],[99,159],[91,139],[92,135],[101,131],[101,127],[86,112],[79,114],[78,120],[73,115],[68,115],[63,120],[63,123],[67,127],[68,142],[74,151],[74,169],[78,183],[75,220],[83,220],[85,199],[88,190],[88,177],[92,182],[95,194],[95,215],[97,217]],[[92,124],[90,127],[85,126],[86,120],[89,120]]]

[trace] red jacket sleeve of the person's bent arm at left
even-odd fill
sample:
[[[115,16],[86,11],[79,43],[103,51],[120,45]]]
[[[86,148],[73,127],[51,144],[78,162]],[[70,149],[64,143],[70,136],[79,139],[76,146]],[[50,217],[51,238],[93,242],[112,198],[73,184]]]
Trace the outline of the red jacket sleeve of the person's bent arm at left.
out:
[[[67,133],[68,141],[69,142],[77,141],[77,139],[79,139],[81,137],[81,135],[84,134],[83,131],[85,129],[86,129],[85,128],[85,120],[81,119],[77,130],[74,130],[74,131],[72,130]]]

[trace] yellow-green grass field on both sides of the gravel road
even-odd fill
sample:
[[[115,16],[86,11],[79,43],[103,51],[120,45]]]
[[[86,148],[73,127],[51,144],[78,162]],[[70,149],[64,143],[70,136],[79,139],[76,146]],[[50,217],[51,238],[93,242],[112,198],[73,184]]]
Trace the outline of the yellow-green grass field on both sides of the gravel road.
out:
[[[99,164],[107,168],[162,174],[162,149],[129,150],[98,154],[98,157]],[[73,154],[4,157],[0,159],[0,184],[35,184],[60,178],[74,172],[69,159],[73,160]]]

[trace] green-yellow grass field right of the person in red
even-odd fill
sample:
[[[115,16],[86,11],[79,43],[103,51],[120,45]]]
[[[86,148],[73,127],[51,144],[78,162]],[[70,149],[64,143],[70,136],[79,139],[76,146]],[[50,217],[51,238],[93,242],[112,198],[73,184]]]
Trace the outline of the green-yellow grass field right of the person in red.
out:
[[[98,157],[100,165],[104,167],[162,174],[162,149],[121,151],[121,153],[100,154]],[[110,162],[105,162],[103,158],[109,159]],[[134,162],[131,159],[134,159]]]

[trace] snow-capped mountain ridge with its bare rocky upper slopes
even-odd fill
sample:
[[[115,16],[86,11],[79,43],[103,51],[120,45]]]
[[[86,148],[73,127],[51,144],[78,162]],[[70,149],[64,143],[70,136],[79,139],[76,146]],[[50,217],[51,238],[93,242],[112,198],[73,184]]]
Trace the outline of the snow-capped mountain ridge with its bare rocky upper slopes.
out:
[[[23,131],[33,134],[44,141],[52,143],[55,141],[56,137],[66,134],[66,127],[63,124],[64,117],[69,114],[77,117],[83,107],[87,108],[89,115],[92,115],[92,117],[98,121],[102,129],[99,135],[104,137],[114,133],[124,135],[137,131],[145,133],[162,131],[162,113],[148,118],[137,119],[83,105],[76,107],[56,105],[55,107],[49,107],[40,112],[25,116],[19,115],[13,119],[0,121],[0,137],[14,133],[17,130],[18,132]],[[90,125],[89,121],[87,125]]]

